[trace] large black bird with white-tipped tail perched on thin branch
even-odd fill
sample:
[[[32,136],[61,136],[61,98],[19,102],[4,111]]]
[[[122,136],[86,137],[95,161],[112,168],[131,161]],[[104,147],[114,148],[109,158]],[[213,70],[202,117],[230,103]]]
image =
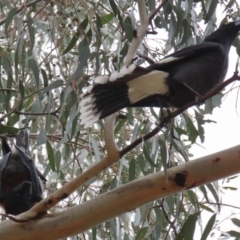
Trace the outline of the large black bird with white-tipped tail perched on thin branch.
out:
[[[221,83],[240,20],[226,23],[197,45],[183,48],[143,68],[123,67],[95,78],[80,103],[81,124],[88,127],[125,107],[175,107],[193,101]]]

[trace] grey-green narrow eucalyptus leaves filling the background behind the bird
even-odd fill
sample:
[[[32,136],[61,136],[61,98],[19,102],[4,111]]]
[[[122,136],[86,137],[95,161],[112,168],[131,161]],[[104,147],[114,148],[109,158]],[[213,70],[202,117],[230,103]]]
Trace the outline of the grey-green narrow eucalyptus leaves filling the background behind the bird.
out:
[[[157,1],[146,1],[148,12]],[[134,30],[139,28],[137,4],[126,1],[0,2],[0,133],[8,137],[31,120],[31,149],[48,178],[48,194],[60,188],[105,154],[102,122],[90,129],[79,125],[80,94],[95,76],[119,69]],[[18,11],[19,10],[19,11]],[[170,52],[200,42],[217,25],[240,15],[236,0],[169,0],[139,48],[158,61]],[[151,29],[149,28],[151,31]],[[240,54],[239,39],[234,45]],[[146,57],[136,64],[146,66]],[[189,161],[189,149],[204,141],[204,114],[219,106],[219,94],[170,122],[164,131],[127,153],[51,211],[67,208],[147,175]],[[115,127],[120,149],[159,123],[159,109],[127,109]],[[79,234],[73,239],[201,239],[216,227],[219,187],[208,184],[148,203]],[[211,203],[217,203],[216,207]],[[208,223],[202,212],[212,214]],[[239,227],[239,220],[232,219]],[[226,233],[227,234],[227,233]],[[177,237],[176,237],[177,236]],[[226,235],[227,236],[227,235]],[[236,231],[228,236],[239,237]]]

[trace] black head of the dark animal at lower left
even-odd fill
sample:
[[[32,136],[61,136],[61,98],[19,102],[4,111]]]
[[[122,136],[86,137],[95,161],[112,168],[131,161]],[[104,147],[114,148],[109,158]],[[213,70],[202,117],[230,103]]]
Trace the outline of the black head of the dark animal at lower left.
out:
[[[32,183],[23,182],[9,191],[2,204],[6,214],[18,215],[33,207]]]

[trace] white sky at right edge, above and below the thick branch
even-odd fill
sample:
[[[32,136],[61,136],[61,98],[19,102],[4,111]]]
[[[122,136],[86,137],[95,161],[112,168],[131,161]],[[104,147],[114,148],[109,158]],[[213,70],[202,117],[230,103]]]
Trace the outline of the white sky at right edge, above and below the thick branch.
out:
[[[226,79],[233,75],[237,61],[236,49],[231,48],[229,54],[229,69]],[[239,67],[240,71],[240,67]],[[240,82],[235,82],[234,86],[239,86]],[[225,91],[231,89],[233,84],[230,84]],[[226,97],[223,98],[223,102],[220,108],[215,108],[212,115],[206,115],[205,119],[211,119],[216,123],[206,123],[205,129],[205,141],[203,144],[198,141],[202,146],[194,144],[190,152],[194,155],[191,159],[203,157],[221,150],[231,148],[240,144],[240,96],[237,98],[239,87],[236,87]],[[240,93],[239,93],[240,94]],[[221,186],[233,186],[239,188],[240,177],[226,183],[224,180],[219,181]],[[240,189],[237,191],[225,190],[224,194],[221,195],[222,202],[224,204],[238,206],[240,208]],[[204,213],[202,218],[203,229],[207,224],[208,219],[212,216],[210,213]],[[232,224],[229,218],[240,218],[240,209],[222,207],[220,215],[217,216],[217,220],[223,221],[220,224],[221,231],[240,231],[234,224]],[[227,220],[225,220],[227,219]],[[215,235],[208,237],[208,240],[220,240],[221,231],[214,230]],[[198,235],[198,231],[195,236]],[[197,238],[196,238],[197,239]],[[221,238],[222,240],[224,238]],[[234,238],[225,238],[234,239]]]

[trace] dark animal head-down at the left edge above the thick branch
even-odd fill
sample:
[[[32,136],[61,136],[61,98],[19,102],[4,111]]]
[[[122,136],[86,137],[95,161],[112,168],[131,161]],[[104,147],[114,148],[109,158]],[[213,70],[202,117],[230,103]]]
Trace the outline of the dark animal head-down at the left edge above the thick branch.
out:
[[[46,182],[46,179],[37,170],[30,155],[27,129],[21,130],[16,136],[16,145],[13,150],[6,138],[2,138],[2,152],[0,206],[6,214],[18,215],[42,200],[42,181]]]

